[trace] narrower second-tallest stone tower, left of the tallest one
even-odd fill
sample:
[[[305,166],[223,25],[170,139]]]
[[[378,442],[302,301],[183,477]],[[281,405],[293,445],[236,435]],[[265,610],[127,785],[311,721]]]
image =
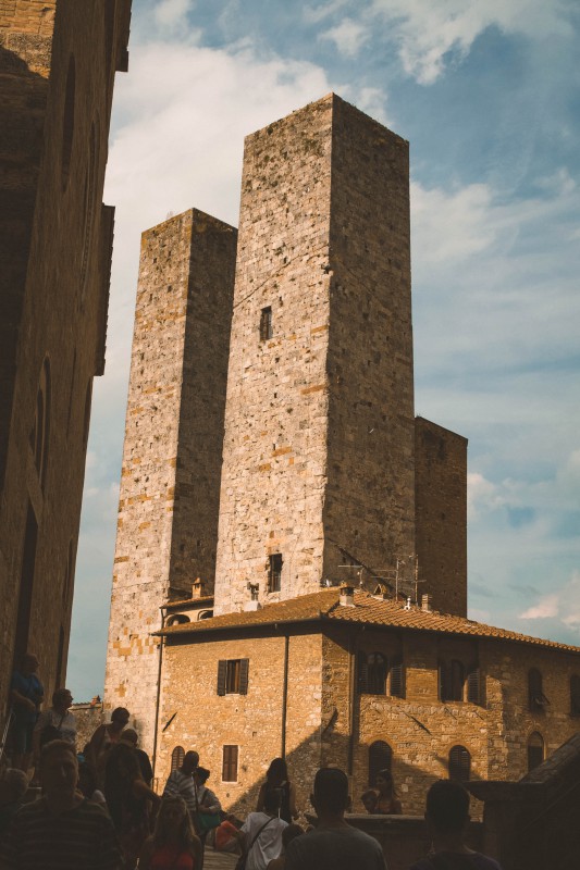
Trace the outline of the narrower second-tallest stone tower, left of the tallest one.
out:
[[[151,751],[160,606],[212,592],[236,231],[190,210],[143,234],[106,707]]]

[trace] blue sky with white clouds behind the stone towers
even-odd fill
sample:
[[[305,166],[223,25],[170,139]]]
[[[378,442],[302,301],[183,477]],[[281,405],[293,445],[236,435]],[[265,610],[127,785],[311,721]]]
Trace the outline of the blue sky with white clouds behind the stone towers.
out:
[[[244,137],[335,91],[410,142],[416,413],[469,438],[469,617],[580,645],[577,0],[133,0],[67,684],[102,694],[140,233],[237,225]]]

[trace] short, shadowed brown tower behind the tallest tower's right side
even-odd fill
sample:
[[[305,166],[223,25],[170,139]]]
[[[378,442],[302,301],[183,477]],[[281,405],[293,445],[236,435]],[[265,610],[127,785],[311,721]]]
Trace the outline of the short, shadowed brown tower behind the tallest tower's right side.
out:
[[[416,554],[419,598],[467,617],[467,439],[415,421]]]

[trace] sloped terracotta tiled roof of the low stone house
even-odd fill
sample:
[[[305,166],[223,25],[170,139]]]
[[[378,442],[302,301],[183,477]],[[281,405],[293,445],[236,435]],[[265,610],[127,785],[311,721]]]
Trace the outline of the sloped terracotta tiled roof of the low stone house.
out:
[[[406,610],[400,602],[375,598],[368,592],[357,589],[354,601],[354,607],[341,605],[338,588],[332,587],[310,595],[301,595],[298,598],[288,598],[277,604],[266,605],[261,610],[223,613],[200,622],[171,625],[162,632],[157,632],[157,634],[173,637],[175,635],[209,633],[227,629],[250,630],[260,625],[331,621],[375,625],[377,627],[436,632],[437,634],[501,638],[503,641],[514,641],[520,644],[531,644],[533,646],[580,654],[580,647],[577,646],[558,644],[555,641],[544,641],[541,637],[531,637],[506,629],[496,629],[493,625],[485,625],[482,622],[474,622],[462,617],[424,611],[415,607]]]

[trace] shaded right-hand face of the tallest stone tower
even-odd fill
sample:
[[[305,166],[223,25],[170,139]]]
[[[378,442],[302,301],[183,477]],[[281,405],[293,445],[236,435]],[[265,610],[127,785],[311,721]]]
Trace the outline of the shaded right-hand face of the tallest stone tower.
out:
[[[415,548],[408,142],[332,98],[324,576]]]

